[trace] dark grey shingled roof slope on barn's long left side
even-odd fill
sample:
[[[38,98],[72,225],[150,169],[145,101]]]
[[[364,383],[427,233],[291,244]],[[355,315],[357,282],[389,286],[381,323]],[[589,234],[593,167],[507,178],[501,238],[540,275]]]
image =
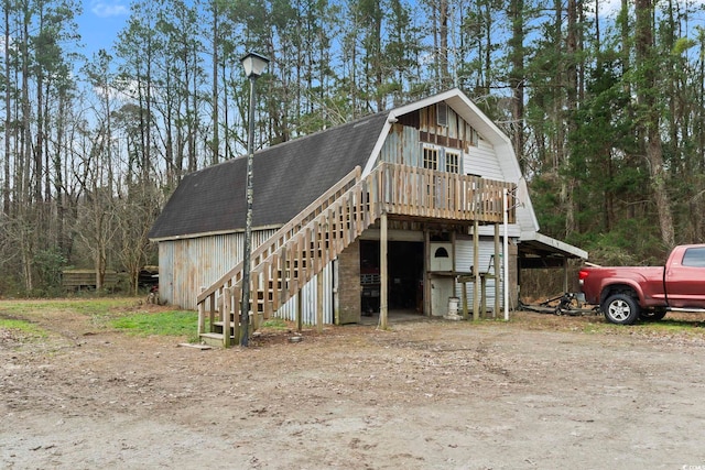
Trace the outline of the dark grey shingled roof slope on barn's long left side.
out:
[[[282,226],[356,166],[365,167],[387,113],[349,122],[254,154],[252,226]],[[186,175],[150,231],[150,239],[194,237],[245,228],[247,159]]]

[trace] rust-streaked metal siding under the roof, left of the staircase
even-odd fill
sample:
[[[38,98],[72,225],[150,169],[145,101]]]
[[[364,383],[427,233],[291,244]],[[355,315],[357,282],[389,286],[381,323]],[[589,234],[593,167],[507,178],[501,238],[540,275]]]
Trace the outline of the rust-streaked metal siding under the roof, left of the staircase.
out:
[[[252,232],[258,247],[275,230]],[[196,309],[202,286],[209,286],[242,260],[243,233],[217,234],[159,243],[159,289],[162,302]]]

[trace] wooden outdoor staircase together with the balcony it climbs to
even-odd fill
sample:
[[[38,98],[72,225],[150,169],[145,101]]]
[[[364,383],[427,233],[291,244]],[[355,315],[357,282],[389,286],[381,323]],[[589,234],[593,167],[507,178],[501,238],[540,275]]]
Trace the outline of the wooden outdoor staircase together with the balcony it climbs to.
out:
[[[512,188],[509,183],[477,176],[389,163],[361,178],[361,168],[356,167],[252,251],[250,331],[319,274],[382,211],[499,223],[503,190]],[[510,222],[513,220],[511,209]],[[229,347],[239,339],[241,278],[242,262],[198,295],[198,335],[203,341]],[[318,323],[323,323],[321,313]]]

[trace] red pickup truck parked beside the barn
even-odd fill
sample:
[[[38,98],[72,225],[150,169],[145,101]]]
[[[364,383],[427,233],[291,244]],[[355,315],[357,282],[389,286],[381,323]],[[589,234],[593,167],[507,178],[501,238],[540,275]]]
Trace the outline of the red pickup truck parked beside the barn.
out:
[[[668,311],[705,313],[705,244],[675,247],[665,266],[583,266],[581,289],[612,324],[660,320]]]

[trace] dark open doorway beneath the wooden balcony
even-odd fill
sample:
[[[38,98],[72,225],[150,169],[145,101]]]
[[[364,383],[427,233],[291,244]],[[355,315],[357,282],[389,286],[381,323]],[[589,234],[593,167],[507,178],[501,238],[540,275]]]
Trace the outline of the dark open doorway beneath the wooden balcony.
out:
[[[388,245],[388,309],[423,314],[423,242],[391,241]],[[379,313],[379,241],[360,242],[362,315]]]

